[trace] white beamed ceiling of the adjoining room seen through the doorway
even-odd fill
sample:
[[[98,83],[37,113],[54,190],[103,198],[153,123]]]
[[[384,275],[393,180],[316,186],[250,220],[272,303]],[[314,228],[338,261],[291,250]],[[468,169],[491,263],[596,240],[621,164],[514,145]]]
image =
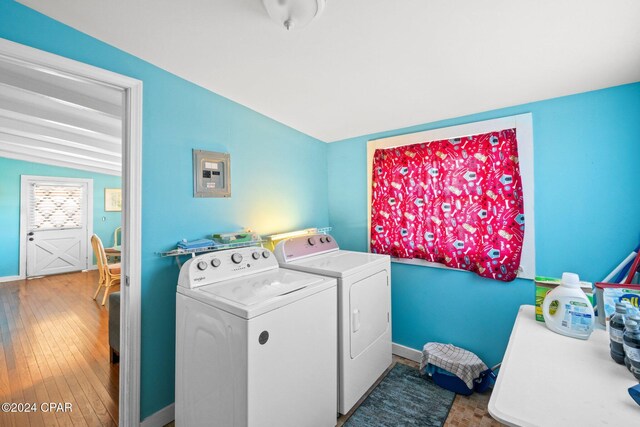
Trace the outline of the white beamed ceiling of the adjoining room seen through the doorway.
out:
[[[0,55],[0,157],[120,175],[122,98]]]

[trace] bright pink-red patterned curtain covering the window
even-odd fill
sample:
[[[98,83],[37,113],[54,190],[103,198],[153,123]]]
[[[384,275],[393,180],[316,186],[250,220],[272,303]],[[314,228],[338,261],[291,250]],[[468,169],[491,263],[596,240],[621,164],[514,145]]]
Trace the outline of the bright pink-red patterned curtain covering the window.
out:
[[[371,251],[516,278],[524,202],[516,130],[376,150]]]

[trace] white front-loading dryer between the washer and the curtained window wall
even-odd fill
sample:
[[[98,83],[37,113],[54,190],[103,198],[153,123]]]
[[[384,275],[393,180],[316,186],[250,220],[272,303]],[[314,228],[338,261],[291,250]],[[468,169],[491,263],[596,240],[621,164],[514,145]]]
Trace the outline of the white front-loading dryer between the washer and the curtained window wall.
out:
[[[329,235],[283,240],[281,267],[338,279],[338,412],[346,414],[391,365],[391,258],[344,251]]]

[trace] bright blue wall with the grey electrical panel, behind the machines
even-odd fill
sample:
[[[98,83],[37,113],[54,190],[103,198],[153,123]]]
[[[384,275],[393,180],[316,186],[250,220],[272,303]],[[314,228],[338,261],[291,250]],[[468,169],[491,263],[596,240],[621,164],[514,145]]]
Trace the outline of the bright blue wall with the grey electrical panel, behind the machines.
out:
[[[326,144],[10,0],[0,37],[144,82],[141,416],[174,401],[178,269],[156,251],[251,227],[326,226]],[[192,196],[191,149],[231,153],[230,199]]]

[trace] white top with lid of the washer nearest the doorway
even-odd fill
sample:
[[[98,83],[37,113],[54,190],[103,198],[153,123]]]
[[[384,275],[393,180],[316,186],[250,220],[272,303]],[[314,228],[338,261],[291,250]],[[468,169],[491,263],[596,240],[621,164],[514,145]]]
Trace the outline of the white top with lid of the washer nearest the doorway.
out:
[[[276,269],[178,292],[250,319],[335,285],[325,277]]]

